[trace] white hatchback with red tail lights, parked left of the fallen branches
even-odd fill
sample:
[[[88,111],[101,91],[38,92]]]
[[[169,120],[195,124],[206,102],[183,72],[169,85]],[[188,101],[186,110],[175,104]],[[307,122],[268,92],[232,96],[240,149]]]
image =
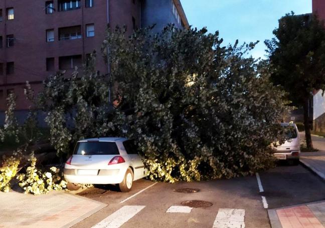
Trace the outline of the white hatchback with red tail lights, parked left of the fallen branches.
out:
[[[146,174],[133,141],[126,138],[80,140],[64,167],[64,177],[70,183],[119,184],[123,192]]]

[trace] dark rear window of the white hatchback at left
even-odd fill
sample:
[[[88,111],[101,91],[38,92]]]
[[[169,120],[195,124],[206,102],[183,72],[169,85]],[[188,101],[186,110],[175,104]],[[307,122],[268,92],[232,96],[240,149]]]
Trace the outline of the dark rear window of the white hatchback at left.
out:
[[[115,142],[87,141],[78,142],[73,154],[115,155],[119,154],[119,152]]]

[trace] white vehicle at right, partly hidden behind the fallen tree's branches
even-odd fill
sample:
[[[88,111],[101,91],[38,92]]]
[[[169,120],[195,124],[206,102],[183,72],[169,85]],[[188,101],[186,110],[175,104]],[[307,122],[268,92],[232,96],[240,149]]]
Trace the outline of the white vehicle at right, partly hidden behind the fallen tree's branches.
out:
[[[284,134],[289,138],[283,144],[277,143],[274,148],[274,157],[278,160],[287,160],[290,163],[298,164],[300,155],[300,137],[297,126],[290,123],[281,123]]]

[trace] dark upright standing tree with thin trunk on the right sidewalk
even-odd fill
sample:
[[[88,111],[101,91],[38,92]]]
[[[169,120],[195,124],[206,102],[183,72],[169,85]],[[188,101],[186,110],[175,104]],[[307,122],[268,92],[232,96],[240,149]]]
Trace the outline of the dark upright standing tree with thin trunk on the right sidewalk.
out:
[[[286,14],[265,41],[271,63],[271,80],[289,94],[292,104],[304,108],[307,146],[312,147],[308,100],[313,90],[325,87],[325,29],[316,16]]]

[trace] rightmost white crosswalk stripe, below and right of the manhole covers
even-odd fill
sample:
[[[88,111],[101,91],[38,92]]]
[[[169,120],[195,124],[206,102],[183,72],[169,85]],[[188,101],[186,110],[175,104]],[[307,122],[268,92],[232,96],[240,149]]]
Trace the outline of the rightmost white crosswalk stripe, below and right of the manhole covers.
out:
[[[220,208],[212,228],[244,228],[245,210]]]

